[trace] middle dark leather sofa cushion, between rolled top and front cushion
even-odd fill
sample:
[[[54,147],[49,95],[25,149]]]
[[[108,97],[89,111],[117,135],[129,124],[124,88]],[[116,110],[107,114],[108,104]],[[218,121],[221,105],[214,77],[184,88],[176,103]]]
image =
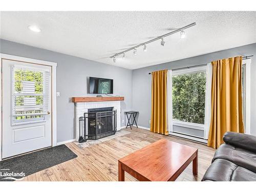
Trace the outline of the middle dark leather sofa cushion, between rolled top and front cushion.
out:
[[[212,162],[216,159],[225,159],[252,172],[256,172],[256,153],[246,151],[243,148],[237,148],[224,143],[216,151]]]

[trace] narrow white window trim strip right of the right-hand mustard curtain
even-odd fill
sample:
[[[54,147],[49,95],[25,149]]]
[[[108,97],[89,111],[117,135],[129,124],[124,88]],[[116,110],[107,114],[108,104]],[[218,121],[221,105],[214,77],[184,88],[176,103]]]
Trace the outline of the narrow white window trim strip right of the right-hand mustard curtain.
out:
[[[251,108],[250,108],[250,99],[251,99],[251,59],[244,59],[242,65],[245,67],[245,133],[251,134]]]

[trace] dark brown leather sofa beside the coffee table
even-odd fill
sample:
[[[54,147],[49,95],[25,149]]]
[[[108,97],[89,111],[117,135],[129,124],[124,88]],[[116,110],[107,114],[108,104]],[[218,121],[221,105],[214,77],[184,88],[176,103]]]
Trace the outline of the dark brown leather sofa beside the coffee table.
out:
[[[256,136],[226,132],[202,181],[256,181]]]

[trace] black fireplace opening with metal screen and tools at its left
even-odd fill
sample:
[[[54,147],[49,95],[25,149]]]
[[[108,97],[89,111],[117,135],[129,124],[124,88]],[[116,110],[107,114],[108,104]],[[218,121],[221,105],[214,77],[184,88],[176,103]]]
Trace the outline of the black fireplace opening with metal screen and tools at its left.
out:
[[[79,118],[79,142],[95,140],[116,133],[117,111],[113,107],[88,109]]]

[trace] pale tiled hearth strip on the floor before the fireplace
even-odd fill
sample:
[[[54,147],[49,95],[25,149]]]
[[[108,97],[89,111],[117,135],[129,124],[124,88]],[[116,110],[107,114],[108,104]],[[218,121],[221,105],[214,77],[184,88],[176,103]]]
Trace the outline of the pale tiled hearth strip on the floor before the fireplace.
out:
[[[101,138],[101,139],[87,140],[87,142],[83,142],[83,143],[78,143],[77,141],[74,141],[74,143],[79,148],[84,148],[84,147],[89,147],[89,146],[92,146],[92,145],[95,145],[95,144],[98,144],[98,143],[101,143],[101,142],[104,142],[104,141],[109,141],[111,139],[115,139],[117,137],[121,137],[121,136],[129,134],[129,133],[131,133],[131,132],[125,131],[125,130],[120,130],[120,131],[117,131],[115,135],[111,135],[111,136],[104,137],[104,138]]]

